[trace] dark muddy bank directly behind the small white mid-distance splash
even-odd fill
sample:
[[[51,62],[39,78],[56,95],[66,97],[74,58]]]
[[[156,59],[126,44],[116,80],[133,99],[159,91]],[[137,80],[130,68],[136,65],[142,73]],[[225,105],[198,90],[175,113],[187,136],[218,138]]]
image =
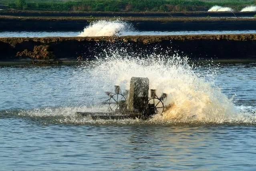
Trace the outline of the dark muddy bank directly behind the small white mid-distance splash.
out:
[[[139,31],[255,30],[256,18],[0,16],[0,31],[82,31],[95,20],[123,20]]]

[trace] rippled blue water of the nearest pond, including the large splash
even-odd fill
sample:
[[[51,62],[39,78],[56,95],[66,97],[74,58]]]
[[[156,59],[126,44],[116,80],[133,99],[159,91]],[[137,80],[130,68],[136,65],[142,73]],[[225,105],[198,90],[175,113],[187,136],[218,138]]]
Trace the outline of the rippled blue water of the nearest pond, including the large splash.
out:
[[[104,61],[0,66],[0,170],[256,169],[255,63]],[[106,111],[105,91],[131,76],[186,110],[147,121],[75,114]]]

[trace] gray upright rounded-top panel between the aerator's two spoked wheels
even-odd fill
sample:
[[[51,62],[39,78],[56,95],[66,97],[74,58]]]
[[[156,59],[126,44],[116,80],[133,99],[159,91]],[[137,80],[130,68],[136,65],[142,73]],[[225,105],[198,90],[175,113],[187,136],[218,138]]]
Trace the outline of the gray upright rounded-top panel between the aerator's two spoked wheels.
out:
[[[149,97],[149,78],[132,77],[130,83],[130,95],[128,110],[131,112],[143,112],[147,108]]]

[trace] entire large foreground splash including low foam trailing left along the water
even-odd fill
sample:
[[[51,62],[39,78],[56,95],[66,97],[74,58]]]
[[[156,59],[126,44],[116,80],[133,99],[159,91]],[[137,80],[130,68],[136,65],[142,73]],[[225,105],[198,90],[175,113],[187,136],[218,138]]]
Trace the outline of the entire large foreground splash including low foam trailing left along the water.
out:
[[[161,48],[155,49],[157,52]],[[92,120],[81,117],[75,111],[106,112],[108,106],[97,105],[79,107],[57,107],[19,111],[18,116],[41,118],[46,123],[61,124],[167,124],[167,125],[218,125],[256,124],[256,108],[235,106],[232,99],[224,95],[215,84],[218,65],[209,66],[200,72],[200,64],[191,64],[188,58],[178,54],[170,55],[171,50],[147,53],[143,50],[131,55],[127,48],[109,48],[104,58],[81,64],[79,74],[74,76],[74,84],[90,81],[104,94],[113,91],[114,85],[128,90],[133,76],[149,78],[149,89],[156,89],[157,96],[167,94],[163,101],[165,111],[152,119]],[[90,69],[88,69],[90,67]],[[85,78],[87,75],[89,78]],[[75,87],[75,85],[73,86]],[[81,90],[81,88],[79,89]],[[101,94],[99,93],[99,94]],[[107,97],[106,97],[107,98]]]

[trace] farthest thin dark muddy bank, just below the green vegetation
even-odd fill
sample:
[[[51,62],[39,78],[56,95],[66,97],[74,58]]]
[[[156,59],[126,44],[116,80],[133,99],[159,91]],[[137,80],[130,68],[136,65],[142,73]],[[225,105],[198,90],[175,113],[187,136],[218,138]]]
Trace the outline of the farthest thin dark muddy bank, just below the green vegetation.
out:
[[[256,12],[82,12],[82,11],[32,11],[32,10],[0,10],[5,16],[38,16],[38,17],[253,17]]]

